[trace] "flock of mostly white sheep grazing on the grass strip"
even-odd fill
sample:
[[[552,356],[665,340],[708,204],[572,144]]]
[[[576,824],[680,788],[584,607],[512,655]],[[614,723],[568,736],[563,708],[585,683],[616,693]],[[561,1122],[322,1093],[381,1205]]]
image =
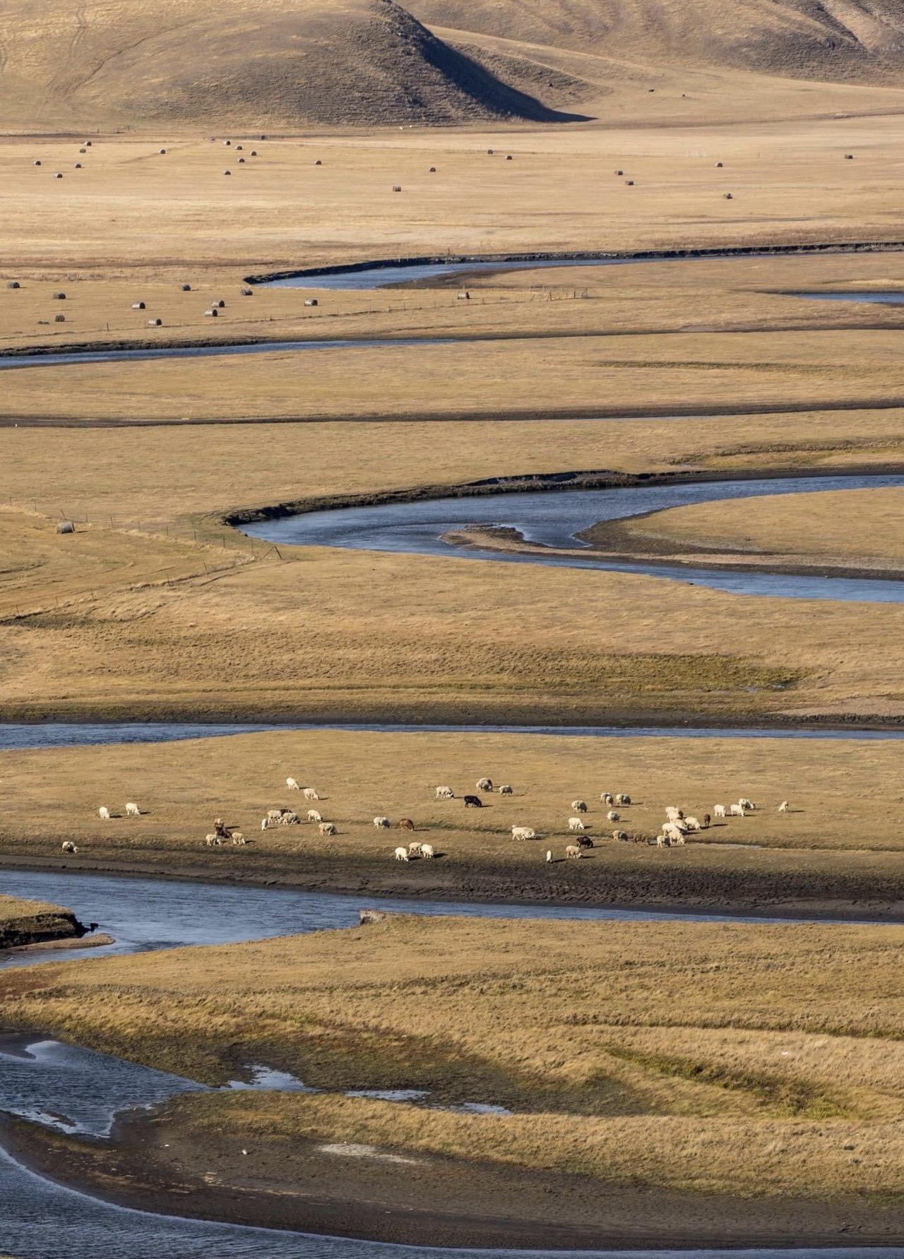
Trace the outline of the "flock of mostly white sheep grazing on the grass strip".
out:
[[[286,787],[290,791],[300,792],[308,803],[320,802],[321,797],[315,791],[314,787],[302,787],[296,778],[287,778]],[[494,787],[491,778],[478,778],[475,783],[476,794],[468,793],[461,797],[465,808],[482,808],[483,799],[482,796],[499,792],[500,796],[514,796],[515,791],[510,783],[502,783],[499,788]],[[434,799],[438,801],[452,801],[456,799],[456,793],[451,787],[436,787]],[[607,810],[606,820],[607,822],[619,822],[622,815],[618,812],[619,808],[631,807],[631,796],[626,792],[608,792],[604,791],[599,796],[601,805]],[[681,846],[685,842],[685,837],[696,831],[706,830],[713,817],[715,818],[729,818],[729,817],[747,817],[755,810],[755,805],[752,799],[742,796],[735,805],[714,805],[713,815],[704,813],[701,818],[689,816],[677,805],[666,805],[665,813],[666,820],[661,823],[660,833],[652,840],[647,840],[643,835],[628,835],[627,831],[614,830],[612,831],[612,838],[621,844],[647,844],[656,847],[675,847]],[[584,821],[588,813],[587,802],[583,799],[573,799],[572,816],[568,818],[569,832],[578,835],[579,837],[574,844],[569,844],[565,847],[565,859],[582,857],[587,849],[594,847],[594,841],[585,832],[588,830],[587,822]],[[778,806],[779,813],[788,813],[791,810],[788,801],[782,801]],[[98,808],[98,816],[105,821],[111,821],[112,817],[117,816],[111,813],[106,805],[101,805]],[[141,817],[141,810],[135,803],[135,801],[128,801],[125,807],[126,817]],[[324,837],[332,837],[337,835],[336,823],[325,821],[322,813],[317,808],[308,808],[306,815],[306,821],[315,823],[317,826],[319,833]],[[273,826],[300,826],[302,822],[301,816],[290,808],[271,808],[267,811],[266,816],[261,818],[261,830],[268,831]],[[414,831],[415,826],[410,817],[402,817],[395,823],[402,831]],[[223,844],[233,844],[242,846],[247,844],[244,833],[234,826],[227,826],[222,817],[214,818],[214,828],[205,837],[204,842],[208,847],[220,846]],[[378,831],[390,830],[393,822],[388,817],[376,816],[374,817],[374,827]],[[514,825],[511,827],[512,840],[525,841],[525,840],[539,840],[543,838],[539,831],[530,826]],[[78,852],[77,846],[72,840],[67,840],[63,844],[63,851],[67,854]],[[393,850],[393,857],[395,861],[409,861],[412,857],[431,860],[436,856],[436,850],[431,844],[423,842],[410,842],[407,846],[399,845]],[[546,850],[546,861],[553,861],[553,850]]]

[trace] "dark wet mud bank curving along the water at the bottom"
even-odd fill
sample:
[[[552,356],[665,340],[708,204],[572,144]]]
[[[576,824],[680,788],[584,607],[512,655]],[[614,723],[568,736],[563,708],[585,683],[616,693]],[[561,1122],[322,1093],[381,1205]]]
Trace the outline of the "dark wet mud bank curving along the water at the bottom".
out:
[[[408,1245],[740,1249],[904,1240],[904,1204],[737,1200],[230,1133],[200,1142],[180,1129],[170,1107],[121,1121],[112,1142],[10,1119],[0,1122],[0,1137],[30,1168],[122,1206]]]

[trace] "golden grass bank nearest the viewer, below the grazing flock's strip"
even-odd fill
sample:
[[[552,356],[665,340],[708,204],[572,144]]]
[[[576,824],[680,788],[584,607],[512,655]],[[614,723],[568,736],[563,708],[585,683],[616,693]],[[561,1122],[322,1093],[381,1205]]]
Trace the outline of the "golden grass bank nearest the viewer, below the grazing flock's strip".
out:
[[[342,933],[42,967],[8,1022],[209,1083],[246,1063],[327,1095],[188,1098],[195,1136],[298,1138],[742,1197],[898,1200],[899,927],[393,918]],[[467,1117],[336,1095],[424,1088]]]

